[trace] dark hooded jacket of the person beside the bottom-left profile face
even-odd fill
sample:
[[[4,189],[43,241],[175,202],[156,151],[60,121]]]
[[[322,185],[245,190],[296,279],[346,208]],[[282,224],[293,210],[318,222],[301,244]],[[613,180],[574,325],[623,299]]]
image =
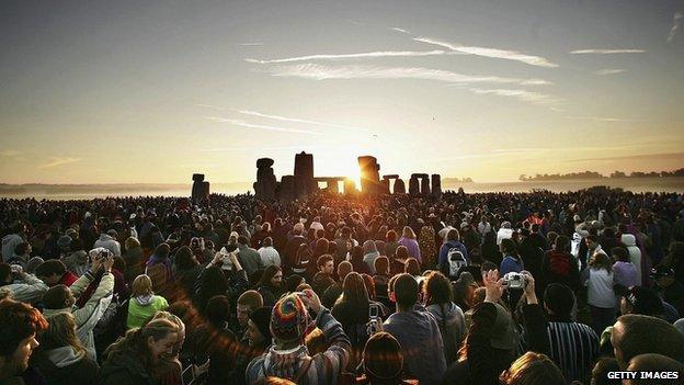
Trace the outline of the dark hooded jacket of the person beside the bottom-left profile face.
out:
[[[71,347],[61,347],[39,352],[34,366],[48,384],[90,385],[98,382],[100,366],[84,354],[78,354]]]

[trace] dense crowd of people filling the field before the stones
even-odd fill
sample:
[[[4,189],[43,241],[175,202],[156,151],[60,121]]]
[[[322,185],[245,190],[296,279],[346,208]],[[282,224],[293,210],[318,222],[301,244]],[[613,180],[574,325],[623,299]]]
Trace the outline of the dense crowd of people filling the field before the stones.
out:
[[[684,374],[682,194],[3,199],[0,237],[2,385]]]

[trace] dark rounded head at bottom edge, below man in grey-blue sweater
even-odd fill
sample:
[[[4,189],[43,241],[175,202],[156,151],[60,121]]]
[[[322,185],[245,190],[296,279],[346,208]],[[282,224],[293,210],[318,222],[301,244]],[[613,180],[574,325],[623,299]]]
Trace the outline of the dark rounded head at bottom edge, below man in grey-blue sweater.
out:
[[[395,383],[403,372],[403,353],[392,335],[379,331],[371,336],[363,351],[364,374],[371,384]]]

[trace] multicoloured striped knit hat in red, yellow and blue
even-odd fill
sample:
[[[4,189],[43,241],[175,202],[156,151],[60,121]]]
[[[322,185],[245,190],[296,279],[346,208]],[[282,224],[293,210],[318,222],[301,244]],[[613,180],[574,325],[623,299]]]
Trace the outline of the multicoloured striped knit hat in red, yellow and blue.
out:
[[[297,294],[281,298],[271,314],[271,335],[282,342],[295,342],[304,339],[307,328],[308,312]]]

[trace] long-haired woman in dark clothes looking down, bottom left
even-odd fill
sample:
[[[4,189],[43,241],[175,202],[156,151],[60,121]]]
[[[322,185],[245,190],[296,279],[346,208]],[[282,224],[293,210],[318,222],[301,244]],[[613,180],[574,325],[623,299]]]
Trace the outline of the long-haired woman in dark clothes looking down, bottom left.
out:
[[[101,385],[151,385],[152,370],[161,355],[173,349],[179,327],[167,319],[153,319],[134,328],[111,344],[100,371]]]

